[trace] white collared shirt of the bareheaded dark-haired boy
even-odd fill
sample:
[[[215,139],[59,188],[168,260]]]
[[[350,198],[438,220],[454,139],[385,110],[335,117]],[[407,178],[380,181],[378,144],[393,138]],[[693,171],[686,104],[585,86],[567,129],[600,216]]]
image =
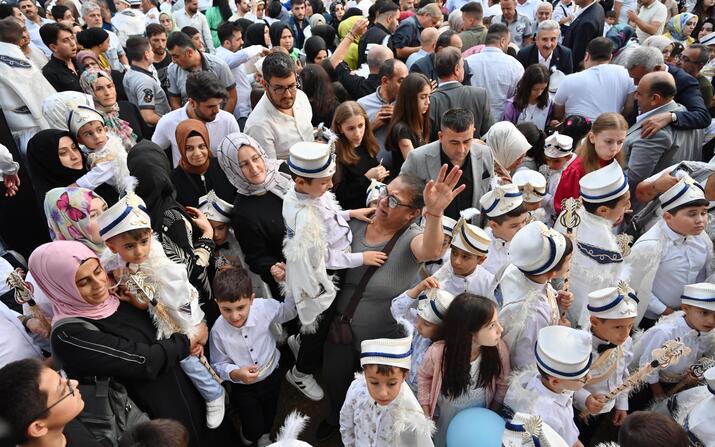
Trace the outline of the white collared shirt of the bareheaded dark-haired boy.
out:
[[[270,327],[275,323],[286,323],[298,315],[293,298],[288,295],[284,302],[273,298],[256,298],[251,304],[248,319],[243,327],[237,328],[218,317],[211,329],[211,365],[223,380],[234,383],[231,371],[246,366],[256,366],[259,371],[257,382],[262,381],[278,367],[281,358],[276,348],[276,339]],[[254,382],[255,383],[255,382]]]

